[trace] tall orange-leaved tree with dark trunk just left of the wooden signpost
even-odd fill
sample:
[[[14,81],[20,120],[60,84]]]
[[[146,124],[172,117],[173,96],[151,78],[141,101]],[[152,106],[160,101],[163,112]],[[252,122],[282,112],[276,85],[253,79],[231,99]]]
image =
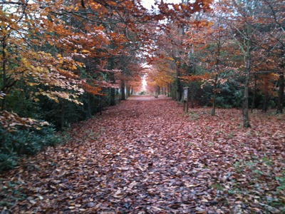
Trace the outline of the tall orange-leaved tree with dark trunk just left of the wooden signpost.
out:
[[[172,58],[172,66],[175,66],[175,88],[174,97],[181,101],[183,83],[181,77],[189,70],[189,55],[192,47],[188,46],[185,40],[185,31],[193,23],[190,17],[198,11],[207,11],[212,1],[182,1],[180,4],[166,4],[163,1],[158,5],[160,15],[163,14],[165,22],[157,26],[157,36],[155,38],[156,58]],[[197,24],[197,23],[194,23]],[[172,68],[170,68],[172,69]]]

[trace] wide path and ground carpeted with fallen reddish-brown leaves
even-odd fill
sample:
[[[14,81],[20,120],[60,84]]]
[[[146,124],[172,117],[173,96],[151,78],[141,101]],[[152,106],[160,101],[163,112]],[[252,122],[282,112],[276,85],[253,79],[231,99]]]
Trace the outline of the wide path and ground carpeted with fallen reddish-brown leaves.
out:
[[[284,116],[131,97],[1,175],[4,213],[281,213]],[[283,179],[283,180],[282,180]],[[283,210],[284,212],[284,210]]]

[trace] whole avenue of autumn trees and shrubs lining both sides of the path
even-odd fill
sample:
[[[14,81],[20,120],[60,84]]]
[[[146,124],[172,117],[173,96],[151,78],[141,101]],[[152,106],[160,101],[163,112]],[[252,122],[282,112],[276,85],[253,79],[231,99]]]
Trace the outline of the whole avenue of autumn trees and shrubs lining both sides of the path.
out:
[[[242,108],[245,128],[254,108],[283,113],[282,0],[160,1],[152,10],[140,0],[2,0],[0,29],[2,161],[53,145],[55,129],[132,93],[181,101],[189,87],[192,108]]]

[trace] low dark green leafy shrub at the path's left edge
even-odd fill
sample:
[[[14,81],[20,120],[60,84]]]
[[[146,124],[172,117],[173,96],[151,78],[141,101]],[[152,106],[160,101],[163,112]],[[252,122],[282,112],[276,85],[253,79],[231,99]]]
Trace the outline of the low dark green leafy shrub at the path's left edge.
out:
[[[4,129],[0,128],[4,133]],[[41,130],[35,128],[23,129],[0,136],[0,172],[9,170],[17,165],[21,156],[31,156],[43,150],[46,146],[55,146],[61,142],[61,138],[55,135],[55,129],[51,126]]]

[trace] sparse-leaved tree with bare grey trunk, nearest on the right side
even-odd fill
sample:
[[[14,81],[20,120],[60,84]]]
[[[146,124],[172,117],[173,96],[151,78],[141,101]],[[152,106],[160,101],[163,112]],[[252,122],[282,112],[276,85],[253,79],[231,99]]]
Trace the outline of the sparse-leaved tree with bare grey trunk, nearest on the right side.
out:
[[[261,16],[263,2],[260,1],[227,1],[224,6],[231,11],[232,16],[228,16],[228,26],[232,31],[233,38],[237,41],[239,49],[243,56],[243,76],[244,76],[244,98],[243,98],[243,121],[244,127],[250,127],[249,123],[249,82],[252,72],[259,70],[269,56],[267,46],[265,51],[263,32],[260,31],[264,24]]]

